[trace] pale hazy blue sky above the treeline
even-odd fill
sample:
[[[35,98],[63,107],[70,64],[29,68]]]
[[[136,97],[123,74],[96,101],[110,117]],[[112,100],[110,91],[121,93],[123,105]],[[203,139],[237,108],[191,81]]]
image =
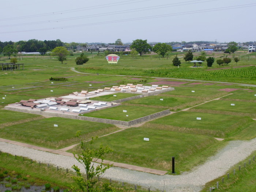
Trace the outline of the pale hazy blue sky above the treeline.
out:
[[[255,0],[12,0],[0,41],[256,41]]]

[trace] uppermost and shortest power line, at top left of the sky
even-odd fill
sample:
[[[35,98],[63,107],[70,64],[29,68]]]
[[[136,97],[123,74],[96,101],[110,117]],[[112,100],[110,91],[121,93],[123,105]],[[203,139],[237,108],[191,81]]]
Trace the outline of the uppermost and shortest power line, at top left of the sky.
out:
[[[136,2],[131,2],[131,1],[136,1],[136,0],[121,1],[121,2],[118,2],[118,3],[108,3],[108,4],[103,4],[103,5],[95,5],[95,6],[91,6],[91,7],[76,8],[76,9],[71,9],[71,10],[49,12],[49,13],[43,13],[43,14],[37,14],[37,15],[27,15],[27,16],[18,16],[18,17],[12,17],[12,18],[5,18],[5,19],[0,19],[0,21],[35,18],[35,17],[48,16],[48,15],[60,15],[60,14],[65,14],[65,13],[70,13],[70,12],[93,10],[93,9],[97,9],[97,8],[112,7],[112,6],[117,6],[117,5],[139,3],[139,2],[151,1],[151,0],[141,0],[141,1],[136,1]]]

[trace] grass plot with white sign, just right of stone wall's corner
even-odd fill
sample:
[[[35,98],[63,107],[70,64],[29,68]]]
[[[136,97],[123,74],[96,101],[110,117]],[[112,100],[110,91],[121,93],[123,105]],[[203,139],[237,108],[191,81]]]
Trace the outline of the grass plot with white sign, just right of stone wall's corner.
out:
[[[197,117],[201,117],[201,120],[197,120]],[[155,127],[169,131],[225,137],[251,122],[254,121],[249,117],[195,112],[178,112],[150,121],[143,126]]]

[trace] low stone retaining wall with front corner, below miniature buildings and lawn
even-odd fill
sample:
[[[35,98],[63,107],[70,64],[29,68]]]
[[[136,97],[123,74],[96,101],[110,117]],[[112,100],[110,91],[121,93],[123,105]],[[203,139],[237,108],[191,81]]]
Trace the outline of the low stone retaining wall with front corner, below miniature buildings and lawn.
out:
[[[31,109],[22,109],[22,108],[14,108],[10,106],[5,106],[5,110],[12,110],[17,112],[23,112],[23,113],[33,113],[38,114],[42,116],[51,116],[51,117],[62,117],[62,118],[70,118],[70,119],[77,119],[77,120],[84,120],[84,121],[93,121],[97,123],[107,123],[107,124],[113,124],[113,125],[121,125],[125,127],[133,126],[139,123],[143,123],[145,121],[150,121],[155,118],[159,118],[162,116],[165,116],[167,114],[170,114],[170,110],[164,110],[158,113],[154,113],[145,117],[141,117],[132,121],[118,121],[118,120],[111,120],[111,119],[104,119],[104,118],[95,118],[95,117],[84,117],[84,116],[75,116],[70,114],[64,114],[64,113],[53,113],[53,112],[46,112],[46,111],[36,111]]]

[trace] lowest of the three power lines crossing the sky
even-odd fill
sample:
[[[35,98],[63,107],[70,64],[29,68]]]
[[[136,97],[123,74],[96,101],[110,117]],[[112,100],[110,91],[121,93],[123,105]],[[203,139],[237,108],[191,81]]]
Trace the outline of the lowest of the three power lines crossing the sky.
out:
[[[113,20],[113,21],[106,21],[106,22],[87,23],[87,24],[71,25],[71,26],[63,26],[63,27],[51,27],[51,28],[44,28],[44,29],[32,29],[32,30],[22,30],[22,31],[6,31],[6,32],[0,32],[0,34],[30,32],[30,31],[43,31],[43,30],[53,30],[53,29],[67,29],[67,28],[73,28],[73,27],[102,25],[102,24],[109,24],[109,23],[120,23],[120,22],[127,22],[127,21],[133,21],[133,20],[162,18],[162,17],[167,17],[167,16],[188,15],[188,14],[197,14],[197,13],[202,13],[202,12],[231,10],[231,9],[253,7],[253,6],[256,6],[256,3],[234,5],[234,6],[228,6],[228,7],[211,8],[211,9],[204,9],[204,10],[197,10],[197,11],[186,11],[186,12],[179,12],[179,13],[173,13],[173,14],[163,14],[163,15],[154,15],[154,16],[146,16],[146,17],[139,17],[139,18],[120,19],[120,20]]]

